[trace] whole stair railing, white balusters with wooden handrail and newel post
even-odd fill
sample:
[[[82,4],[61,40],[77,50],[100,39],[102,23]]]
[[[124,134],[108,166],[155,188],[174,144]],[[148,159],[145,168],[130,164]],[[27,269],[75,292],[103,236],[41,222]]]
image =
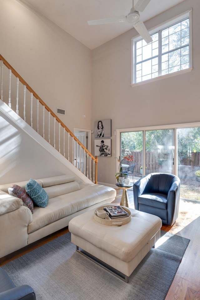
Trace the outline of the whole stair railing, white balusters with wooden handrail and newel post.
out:
[[[49,145],[62,154],[63,158],[73,164],[78,173],[83,173],[93,183],[97,183],[98,157],[94,157],[85,148],[1,54],[0,60],[0,99],[16,112],[14,118],[17,120],[21,117]],[[8,114],[9,109],[5,108],[5,113]],[[29,134],[30,132],[32,131],[30,130]],[[36,139],[35,134],[32,136]]]

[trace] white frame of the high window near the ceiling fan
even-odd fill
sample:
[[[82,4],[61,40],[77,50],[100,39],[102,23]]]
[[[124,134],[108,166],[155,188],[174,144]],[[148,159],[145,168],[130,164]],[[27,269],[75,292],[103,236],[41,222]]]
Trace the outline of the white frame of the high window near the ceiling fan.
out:
[[[131,39],[131,48],[132,48],[132,55],[131,55],[131,87],[135,87],[137,85],[150,83],[150,82],[153,82],[153,81],[161,80],[161,79],[164,79],[164,78],[168,78],[168,77],[172,77],[172,76],[176,76],[176,75],[179,75],[179,74],[183,74],[183,73],[187,73],[187,72],[192,71],[192,69],[193,69],[193,67],[192,67],[192,8],[190,8],[188,11],[183,12],[180,15],[168,20],[167,22],[164,22],[164,23],[160,24],[159,26],[152,28],[151,30],[149,30],[149,34],[152,35],[152,34],[158,32],[159,30],[170,27],[170,26],[172,26],[172,25],[174,25],[174,24],[176,24],[180,21],[183,21],[184,19],[187,19],[187,18],[189,18],[189,68],[181,70],[181,71],[177,71],[177,72],[174,72],[174,73],[169,73],[169,74],[166,74],[166,75],[160,75],[158,77],[136,83],[135,44],[136,44],[136,42],[141,40],[141,36],[137,36],[137,37]],[[161,58],[161,53],[158,54],[158,60],[159,60],[159,57]]]

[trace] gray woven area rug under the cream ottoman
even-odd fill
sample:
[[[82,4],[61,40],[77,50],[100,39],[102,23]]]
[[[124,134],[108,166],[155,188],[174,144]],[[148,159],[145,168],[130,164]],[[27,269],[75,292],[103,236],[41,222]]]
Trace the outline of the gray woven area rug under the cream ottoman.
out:
[[[28,284],[37,300],[164,300],[189,240],[162,237],[125,283],[76,252],[70,233],[8,262],[16,286]]]

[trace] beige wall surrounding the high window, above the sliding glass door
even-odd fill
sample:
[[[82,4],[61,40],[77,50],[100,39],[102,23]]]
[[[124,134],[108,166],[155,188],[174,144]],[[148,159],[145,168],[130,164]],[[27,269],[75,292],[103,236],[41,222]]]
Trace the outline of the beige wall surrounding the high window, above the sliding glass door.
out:
[[[117,128],[200,121],[200,1],[185,0],[146,22],[148,29],[192,11],[193,70],[190,73],[131,87],[132,29],[92,51],[92,130],[94,122],[112,119],[112,149],[116,150]],[[94,140],[94,138],[93,138]],[[93,144],[92,144],[93,146]],[[94,151],[94,146],[93,146]],[[98,181],[115,184],[116,155],[99,157]],[[99,178],[99,175],[102,178]]]

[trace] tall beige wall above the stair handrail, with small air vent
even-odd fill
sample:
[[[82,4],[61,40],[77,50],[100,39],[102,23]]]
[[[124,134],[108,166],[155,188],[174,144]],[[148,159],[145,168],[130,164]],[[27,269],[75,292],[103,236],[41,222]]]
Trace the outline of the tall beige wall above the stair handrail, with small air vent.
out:
[[[31,7],[0,0],[0,53],[73,132],[91,129],[91,50]],[[83,118],[86,114],[86,118]]]

